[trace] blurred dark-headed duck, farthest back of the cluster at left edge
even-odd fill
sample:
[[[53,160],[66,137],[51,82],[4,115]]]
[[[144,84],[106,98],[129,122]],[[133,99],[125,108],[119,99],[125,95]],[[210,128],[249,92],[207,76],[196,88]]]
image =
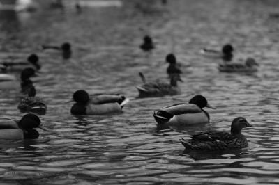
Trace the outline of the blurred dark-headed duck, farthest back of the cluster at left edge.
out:
[[[40,70],[39,57],[36,54],[31,54],[27,57],[27,62],[3,62],[3,71],[22,71],[24,68],[31,67],[34,70]]]

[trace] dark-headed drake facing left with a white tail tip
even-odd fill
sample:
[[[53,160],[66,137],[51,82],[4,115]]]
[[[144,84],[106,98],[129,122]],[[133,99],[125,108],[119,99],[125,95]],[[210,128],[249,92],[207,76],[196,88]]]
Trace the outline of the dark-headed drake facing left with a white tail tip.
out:
[[[123,95],[90,95],[86,90],[77,90],[73,93],[73,104],[70,113],[73,115],[102,115],[121,113],[122,108],[129,102]]]

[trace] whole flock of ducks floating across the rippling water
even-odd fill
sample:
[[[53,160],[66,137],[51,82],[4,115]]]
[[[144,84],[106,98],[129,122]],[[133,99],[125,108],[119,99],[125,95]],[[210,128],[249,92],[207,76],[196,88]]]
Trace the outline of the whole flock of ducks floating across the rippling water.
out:
[[[155,48],[150,36],[144,37],[144,43],[140,45],[143,51],[151,51]],[[69,43],[64,43],[60,47],[43,46],[43,49],[57,49],[61,51],[62,57],[68,59],[71,56],[71,47]],[[257,63],[253,58],[248,58],[245,64],[232,63],[234,51],[232,45],[225,45],[222,51],[203,49],[202,54],[223,59],[223,63],[218,66],[221,72],[251,72],[255,71],[254,65]],[[38,56],[31,54],[25,63],[1,63],[0,67],[3,72],[15,70],[24,66],[20,75],[20,87],[22,94],[26,95],[20,101],[18,108],[22,112],[27,112],[20,121],[8,118],[0,119],[0,138],[7,140],[17,140],[23,138],[38,138],[39,134],[34,128],[41,128],[48,131],[40,125],[40,118],[36,114],[45,114],[47,106],[43,99],[36,97],[36,89],[33,86],[31,77],[34,77],[40,64]],[[143,84],[136,86],[140,98],[142,97],[162,97],[165,95],[178,95],[180,89],[178,81],[182,81],[179,63],[176,62],[174,54],[167,54],[165,61],[169,63],[167,74],[170,83],[160,81],[146,82],[144,74],[140,72]],[[0,88],[7,89],[14,87],[17,79],[12,74],[0,74]],[[10,83],[12,85],[10,85]],[[17,89],[18,89],[17,88]],[[73,93],[75,102],[70,108],[73,115],[100,115],[121,113],[122,108],[129,102],[129,99],[121,94],[94,94],[89,95],[86,90],[77,90]],[[158,125],[167,127],[179,127],[187,125],[196,125],[209,123],[209,113],[203,108],[213,108],[205,97],[195,95],[188,103],[173,104],[166,106],[158,111],[154,111],[153,118]],[[36,113],[36,114],[33,114]],[[231,132],[224,131],[206,131],[192,136],[191,140],[181,139],[181,143],[188,150],[227,150],[232,148],[243,148],[248,146],[246,138],[241,134],[241,129],[252,127],[245,118],[239,117],[232,121]]]

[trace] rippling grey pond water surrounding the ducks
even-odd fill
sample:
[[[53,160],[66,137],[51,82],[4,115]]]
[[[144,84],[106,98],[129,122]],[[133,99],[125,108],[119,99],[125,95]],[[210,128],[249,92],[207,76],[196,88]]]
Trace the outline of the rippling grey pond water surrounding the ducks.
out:
[[[0,14],[1,61],[24,60],[36,52],[43,63],[37,94],[48,106],[40,116],[51,133],[37,140],[1,141],[2,184],[279,184],[279,3],[273,1],[122,1],[122,7],[43,9]],[[72,5],[74,1],[69,1]],[[145,34],[157,43],[151,54],[139,49]],[[63,61],[40,44],[73,43]],[[232,42],[236,60],[253,56],[259,72],[225,74],[218,62],[199,54],[203,47]],[[183,65],[182,94],[134,99],[147,79],[167,81],[165,56]],[[121,92],[131,97],[121,115],[70,115],[73,92]],[[0,115],[21,118],[17,91],[0,91]],[[160,131],[152,113],[204,95],[218,109],[211,124]],[[229,131],[233,118],[255,126],[243,130],[249,147],[240,151],[186,152],[180,138],[203,129]]]

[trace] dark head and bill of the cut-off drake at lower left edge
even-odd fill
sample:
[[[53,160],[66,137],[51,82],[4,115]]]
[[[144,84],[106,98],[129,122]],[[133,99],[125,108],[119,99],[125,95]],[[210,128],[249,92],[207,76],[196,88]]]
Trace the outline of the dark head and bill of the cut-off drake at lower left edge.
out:
[[[49,129],[40,125],[40,118],[37,115],[28,113],[22,117],[22,119],[17,122],[18,127],[23,130],[24,138],[38,138],[39,133],[35,128],[43,129],[44,131],[50,131]]]

